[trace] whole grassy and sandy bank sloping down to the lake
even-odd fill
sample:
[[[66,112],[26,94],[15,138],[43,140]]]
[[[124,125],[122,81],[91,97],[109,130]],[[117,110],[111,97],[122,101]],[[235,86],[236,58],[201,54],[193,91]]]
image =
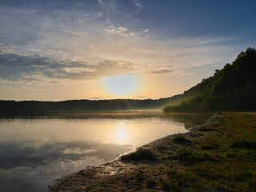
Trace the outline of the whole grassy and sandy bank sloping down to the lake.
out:
[[[255,191],[256,116],[218,113],[210,124],[71,174],[50,190]]]

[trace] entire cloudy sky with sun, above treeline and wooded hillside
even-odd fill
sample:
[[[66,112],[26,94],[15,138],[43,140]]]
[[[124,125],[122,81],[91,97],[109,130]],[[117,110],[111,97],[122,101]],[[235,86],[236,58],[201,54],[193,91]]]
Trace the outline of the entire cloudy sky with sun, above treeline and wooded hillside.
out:
[[[256,2],[0,0],[0,99],[166,98],[256,43]]]

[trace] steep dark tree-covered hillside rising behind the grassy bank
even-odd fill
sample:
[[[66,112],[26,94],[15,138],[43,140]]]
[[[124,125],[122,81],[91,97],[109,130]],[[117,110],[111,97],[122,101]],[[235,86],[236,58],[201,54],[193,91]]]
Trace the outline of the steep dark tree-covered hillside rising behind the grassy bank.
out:
[[[256,50],[249,47],[242,51],[232,64],[215,70],[214,76],[202,79],[180,97],[185,99],[179,105],[167,106],[164,111],[255,110]]]

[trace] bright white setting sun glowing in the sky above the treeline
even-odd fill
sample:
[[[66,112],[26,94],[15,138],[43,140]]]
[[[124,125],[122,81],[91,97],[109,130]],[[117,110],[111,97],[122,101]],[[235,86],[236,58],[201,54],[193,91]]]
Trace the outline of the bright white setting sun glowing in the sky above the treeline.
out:
[[[104,79],[106,89],[118,96],[132,94],[138,88],[138,78],[135,75],[118,75]]]

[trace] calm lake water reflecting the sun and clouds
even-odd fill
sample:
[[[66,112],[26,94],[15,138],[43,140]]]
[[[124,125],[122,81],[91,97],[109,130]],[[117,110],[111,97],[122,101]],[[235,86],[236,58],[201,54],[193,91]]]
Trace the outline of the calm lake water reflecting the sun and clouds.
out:
[[[0,118],[0,190],[46,191],[54,179],[184,133],[206,118],[152,111]]]

